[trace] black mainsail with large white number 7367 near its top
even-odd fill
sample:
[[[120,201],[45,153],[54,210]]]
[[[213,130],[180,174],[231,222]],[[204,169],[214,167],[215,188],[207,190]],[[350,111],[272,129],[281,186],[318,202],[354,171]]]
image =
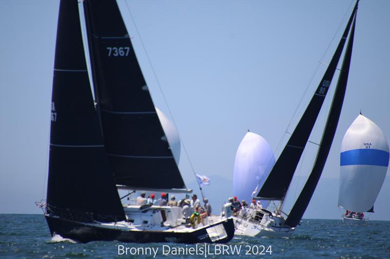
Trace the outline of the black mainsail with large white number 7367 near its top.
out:
[[[115,0],[85,0],[94,89],[117,185],[185,189]]]

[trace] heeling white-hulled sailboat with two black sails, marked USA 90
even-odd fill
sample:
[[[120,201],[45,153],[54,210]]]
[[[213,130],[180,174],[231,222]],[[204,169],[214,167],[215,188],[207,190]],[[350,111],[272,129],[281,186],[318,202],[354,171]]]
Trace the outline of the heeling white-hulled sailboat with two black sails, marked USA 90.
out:
[[[351,53],[353,45],[353,36],[355,30],[356,12],[358,1],[353,8],[351,17],[348,20],[344,33],[338,43],[336,51],[334,52],[331,62],[325,71],[318,87],[316,88],[312,99],[306,110],[304,111],[300,121],[296,125],[294,131],[283,151],[275,162],[270,174],[261,186],[256,195],[259,200],[271,200],[279,202],[279,206],[275,207],[275,211],[260,211],[256,218],[249,218],[247,221],[255,223],[255,227],[259,230],[258,236],[290,236],[299,224],[309,202],[312,194],[317,186],[322,170],[325,166],[331,143],[337,128],[337,123],[340,117],[341,108],[344,101],[345,91],[347,87],[348,74],[351,63]],[[350,30],[351,29],[351,30]],[[328,89],[331,86],[331,81],[336,70],[339,59],[342,55],[344,45],[347,42],[347,47],[344,54],[344,59],[340,69],[337,85],[333,100],[331,103],[328,118],[325,124],[324,132],[319,143],[316,158],[312,167],[312,172],[309,175],[300,195],[295,201],[289,214],[283,212],[282,207],[286,198],[287,191],[292,182],[292,177],[309,140],[310,134],[317,120],[318,114],[324,103]],[[284,214],[287,216],[284,218]],[[256,213],[257,215],[257,213]],[[235,227],[238,228],[244,221],[234,221]]]

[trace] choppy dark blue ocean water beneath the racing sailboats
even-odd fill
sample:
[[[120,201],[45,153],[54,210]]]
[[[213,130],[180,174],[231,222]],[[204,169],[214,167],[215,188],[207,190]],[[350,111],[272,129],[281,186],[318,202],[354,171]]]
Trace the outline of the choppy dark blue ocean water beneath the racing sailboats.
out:
[[[127,255],[118,255],[126,248]],[[235,236],[227,246],[82,244],[59,236],[52,238],[43,215],[0,214],[0,258],[390,258],[390,222],[347,225],[341,220],[306,219],[290,238]]]

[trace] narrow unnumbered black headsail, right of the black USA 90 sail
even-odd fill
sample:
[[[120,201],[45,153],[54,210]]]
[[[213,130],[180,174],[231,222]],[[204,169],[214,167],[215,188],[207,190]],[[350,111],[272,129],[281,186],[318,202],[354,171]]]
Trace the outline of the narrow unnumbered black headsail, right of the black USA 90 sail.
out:
[[[351,65],[353,36],[355,32],[356,11],[357,11],[357,2],[352,13],[354,19],[352,23],[350,38],[348,40],[343,64],[341,66],[341,72],[337,81],[336,90],[331,104],[331,110],[326,122],[324,134],[322,135],[320,147],[318,149],[317,156],[315,158],[312,173],[310,173],[310,176],[305,186],[303,187],[298,199],[295,201],[295,204],[292,207],[292,210],[285,221],[285,224],[290,227],[295,227],[297,224],[299,224],[299,221],[301,220],[303,214],[305,213],[305,210],[308,207],[309,202],[312,198],[315,187],[317,186],[317,183],[321,177],[322,170],[324,169],[325,162],[327,160],[329,151],[331,149],[331,144],[337,129],[337,124],[343,106],[345,91],[347,88],[348,74]]]

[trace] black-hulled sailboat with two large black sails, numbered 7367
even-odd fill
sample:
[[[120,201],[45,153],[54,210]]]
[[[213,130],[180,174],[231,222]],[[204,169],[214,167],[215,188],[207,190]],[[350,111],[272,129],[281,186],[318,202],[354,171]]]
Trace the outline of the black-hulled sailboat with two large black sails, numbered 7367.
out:
[[[47,199],[39,204],[50,233],[78,242],[229,242],[229,204],[224,216],[197,226],[182,218],[180,207],[122,206],[118,189],[192,190],[177,167],[117,2],[82,5],[92,87],[78,1],[59,6]]]

